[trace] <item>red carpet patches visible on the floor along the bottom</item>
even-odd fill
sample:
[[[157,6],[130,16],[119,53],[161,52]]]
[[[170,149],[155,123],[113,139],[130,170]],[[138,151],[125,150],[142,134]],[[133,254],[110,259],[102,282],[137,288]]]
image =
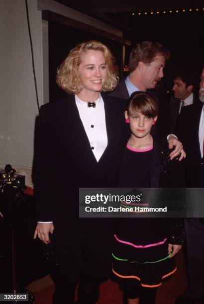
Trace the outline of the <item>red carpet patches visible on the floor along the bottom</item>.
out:
[[[176,257],[177,271],[159,289],[156,304],[174,304],[175,299],[182,295],[187,288],[186,273],[184,267],[183,252],[180,251]],[[35,304],[52,304],[54,286],[50,286],[37,294]],[[65,303],[69,304],[69,303]],[[108,280],[101,285],[101,298],[98,304],[122,304],[122,292],[118,285]]]

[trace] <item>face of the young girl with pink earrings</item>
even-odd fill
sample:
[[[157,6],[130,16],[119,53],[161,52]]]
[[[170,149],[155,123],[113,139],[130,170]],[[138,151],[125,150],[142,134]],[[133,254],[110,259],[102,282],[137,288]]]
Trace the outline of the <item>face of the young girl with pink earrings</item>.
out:
[[[157,120],[157,116],[147,117],[141,112],[136,111],[134,115],[128,115],[125,111],[125,118],[129,119],[129,126],[132,134],[137,138],[144,138],[150,134],[153,121]]]

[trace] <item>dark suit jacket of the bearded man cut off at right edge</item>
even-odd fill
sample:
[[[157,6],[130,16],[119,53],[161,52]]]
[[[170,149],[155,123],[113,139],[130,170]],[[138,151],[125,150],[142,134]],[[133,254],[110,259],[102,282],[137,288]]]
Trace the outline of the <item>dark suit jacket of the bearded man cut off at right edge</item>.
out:
[[[204,187],[204,158],[199,144],[199,124],[204,104],[184,107],[176,128],[176,135],[184,145],[186,157],[187,187]]]

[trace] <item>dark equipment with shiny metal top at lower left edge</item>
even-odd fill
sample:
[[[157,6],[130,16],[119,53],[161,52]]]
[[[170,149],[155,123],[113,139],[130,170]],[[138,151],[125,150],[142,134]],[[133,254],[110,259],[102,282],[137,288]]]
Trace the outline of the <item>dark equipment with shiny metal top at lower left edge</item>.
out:
[[[0,171],[0,287],[1,293],[27,293],[28,303],[32,304],[34,295],[26,290],[18,290],[16,283],[16,239],[14,222],[18,216],[19,205],[24,201],[25,176],[16,174],[16,171],[7,164]],[[12,303],[21,303],[13,301]]]

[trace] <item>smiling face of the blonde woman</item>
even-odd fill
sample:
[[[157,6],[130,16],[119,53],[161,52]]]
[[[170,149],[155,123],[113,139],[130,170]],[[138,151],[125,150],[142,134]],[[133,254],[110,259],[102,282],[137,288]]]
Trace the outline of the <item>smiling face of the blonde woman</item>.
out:
[[[102,51],[86,51],[82,56],[79,72],[83,93],[100,92],[107,76],[107,68]]]

